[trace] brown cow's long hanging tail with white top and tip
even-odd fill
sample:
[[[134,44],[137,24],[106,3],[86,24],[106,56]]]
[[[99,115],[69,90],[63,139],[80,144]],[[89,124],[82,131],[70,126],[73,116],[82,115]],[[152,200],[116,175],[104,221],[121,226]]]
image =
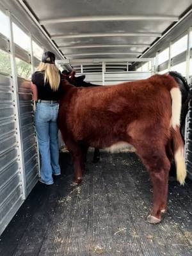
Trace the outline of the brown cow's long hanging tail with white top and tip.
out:
[[[180,134],[180,111],[181,111],[181,92],[177,87],[170,90],[172,97],[172,138],[173,154],[177,168],[177,180],[184,185],[186,179],[186,164],[184,159],[184,142]]]

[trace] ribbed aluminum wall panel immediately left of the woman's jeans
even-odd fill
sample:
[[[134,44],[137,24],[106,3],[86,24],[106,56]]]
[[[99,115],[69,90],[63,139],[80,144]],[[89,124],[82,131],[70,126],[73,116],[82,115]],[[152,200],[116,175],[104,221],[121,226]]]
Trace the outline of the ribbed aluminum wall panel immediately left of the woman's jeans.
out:
[[[38,156],[36,150],[35,127],[33,119],[33,104],[30,82],[17,77],[20,112],[20,134],[24,154],[24,170],[26,177],[26,195],[38,180]]]

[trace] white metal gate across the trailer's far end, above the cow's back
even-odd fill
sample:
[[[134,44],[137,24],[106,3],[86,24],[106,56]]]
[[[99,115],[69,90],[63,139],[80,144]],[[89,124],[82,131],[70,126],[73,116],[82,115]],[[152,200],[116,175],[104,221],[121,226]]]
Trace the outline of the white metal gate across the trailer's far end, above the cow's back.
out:
[[[155,72],[155,66],[154,66],[154,58],[122,58],[122,59],[85,59],[85,60],[56,60],[56,63],[60,64],[61,67],[65,68],[66,65],[72,65],[72,67],[80,67],[80,68],[74,68],[74,70],[77,70],[77,76],[85,75],[86,81],[89,81],[91,83],[100,84],[100,85],[109,85],[109,84],[117,84],[117,83],[123,83],[125,81],[134,81],[139,79],[145,79],[147,77],[152,76]],[[95,68],[97,70],[100,70],[99,72],[87,72],[86,66],[89,65],[89,67],[94,67],[94,65],[99,66],[99,68]],[[123,65],[126,67],[126,71],[118,72],[113,71],[109,72],[108,65],[111,65],[116,63],[115,65]],[[132,65],[132,63],[150,63],[148,65],[147,70],[145,71],[137,71],[137,70],[129,70],[129,65]],[[90,68],[90,70],[93,70],[94,68]],[[79,72],[79,70],[81,70]]]

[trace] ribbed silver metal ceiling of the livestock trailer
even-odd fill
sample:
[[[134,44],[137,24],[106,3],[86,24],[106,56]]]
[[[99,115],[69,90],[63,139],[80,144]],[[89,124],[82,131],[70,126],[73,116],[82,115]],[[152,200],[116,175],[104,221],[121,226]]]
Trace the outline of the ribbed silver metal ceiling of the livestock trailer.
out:
[[[191,0],[24,1],[66,58],[136,58]]]

